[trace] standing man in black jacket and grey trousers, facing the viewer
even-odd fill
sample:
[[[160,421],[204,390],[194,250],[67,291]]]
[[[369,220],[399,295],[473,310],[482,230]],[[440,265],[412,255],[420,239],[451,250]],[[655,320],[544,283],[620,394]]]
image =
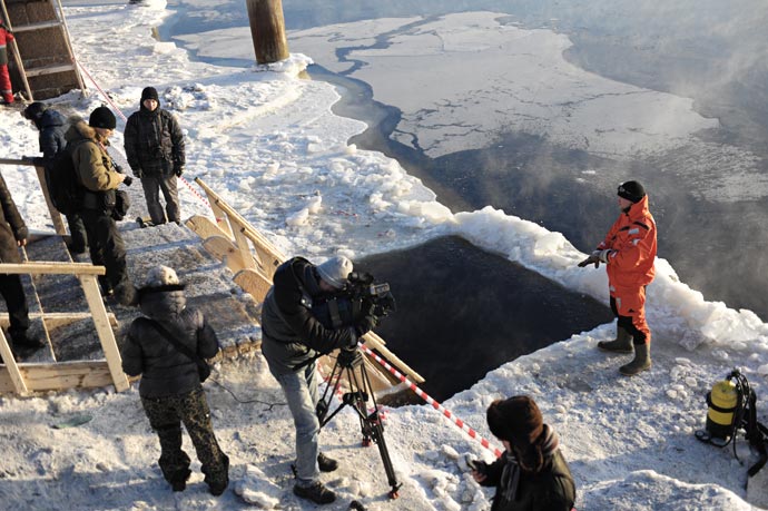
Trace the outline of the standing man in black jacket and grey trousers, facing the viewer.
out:
[[[154,225],[168,222],[179,224],[177,177],[184,174],[186,163],[184,134],[176,117],[160,108],[154,87],[141,91],[139,110],[126,122],[125,149],[134,176],[141,179],[144,197]],[[166,200],[163,212],[160,191]]]

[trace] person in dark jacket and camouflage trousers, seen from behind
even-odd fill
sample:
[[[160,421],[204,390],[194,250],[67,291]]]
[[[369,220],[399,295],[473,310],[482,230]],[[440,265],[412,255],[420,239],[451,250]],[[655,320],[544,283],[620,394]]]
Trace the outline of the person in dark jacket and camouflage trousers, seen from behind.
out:
[[[229,484],[229,458],[216,441],[197,364],[167,341],[151,321],[200,358],[218,353],[216,333],[203,313],[186,307],[184,285],[173,268],[152,268],[138,292],[138,301],[144,317],[134,320],[128,330],[121,350],[122,371],[130,376],[141,375],[139,395],[160,440],[158,463],[163,475],[174,491],[184,491],[191,474],[189,456],[181,449],[184,423],[210,493],[220,495]]]

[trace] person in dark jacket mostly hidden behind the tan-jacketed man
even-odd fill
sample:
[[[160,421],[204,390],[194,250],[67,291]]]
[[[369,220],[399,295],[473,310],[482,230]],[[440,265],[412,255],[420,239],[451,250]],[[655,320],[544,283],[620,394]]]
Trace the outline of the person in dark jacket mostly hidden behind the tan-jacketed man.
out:
[[[40,101],[35,101],[28,106],[23,115],[40,131],[40,153],[42,153],[45,165],[52,165],[56,155],[67,148],[67,139],[65,137],[69,127],[67,119],[60,112]],[[71,240],[68,245],[69,252],[72,255],[83,254],[88,248],[88,236],[86,235],[82,217],[80,213],[71,213],[66,216],[71,235]]]

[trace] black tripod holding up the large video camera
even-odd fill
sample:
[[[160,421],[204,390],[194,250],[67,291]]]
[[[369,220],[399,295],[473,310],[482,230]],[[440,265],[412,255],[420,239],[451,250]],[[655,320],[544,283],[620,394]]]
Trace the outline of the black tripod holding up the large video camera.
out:
[[[349,392],[345,392],[342,396],[342,404],[328,414],[331,401],[341,385],[342,376],[346,376],[349,382]],[[368,397],[373,401],[373,412],[367,413],[366,403]],[[323,392],[323,396],[317,402],[317,417],[319,419],[321,428],[327,424],[344,406],[349,405],[360,419],[360,428],[363,433],[363,446],[371,445],[371,442],[378,445],[378,453],[384,463],[384,471],[386,479],[392,490],[388,492],[390,499],[397,499],[401,483],[397,482],[395,470],[392,466],[390,459],[390,451],[386,449],[384,441],[384,424],[382,424],[378,416],[378,404],[371,387],[371,379],[363,363],[363,354],[360,350],[341,350],[336,364],[331,372],[328,385]]]

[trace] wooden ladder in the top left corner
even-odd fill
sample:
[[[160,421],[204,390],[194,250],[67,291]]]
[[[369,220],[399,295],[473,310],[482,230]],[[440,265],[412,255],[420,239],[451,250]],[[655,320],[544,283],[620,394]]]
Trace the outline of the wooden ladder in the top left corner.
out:
[[[71,45],[70,38],[69,38],[69,29],[67,28],[67,19],[65,18],[63,8],[61,6],[61,0],[49,0],[49,2],[50,2],[51,8],[53,10],[53,19],[46,20],[46,21],[39,21],[36,23],[20,24],[20,26],[13,27],[11,24],[10,17],[8,16],[8,8],[6,7],[6,0],[0,0],[0,4],[2,6],[2,13],[3,13],[4,19],[7,20],[8,28],[14,35],[21,33],[21,32],[33,32],[33,31],[39,31],[39,30],[47,30],[50,28],[58,27],[59,30],[61,31],[61,38],[62,38],[65,47],[67,49],[67,53],[69,57],[68,62],[55,63],[55,65],[41,66],[41,67],[33,67],[33,68],[26,68],[23,65],[23,59],[22,59],[20,50],[19,50],[19,45],[16,41],[13,41],[13,43],[9,45],[13,49],[13,59],[16,61],[16,65],[19,68],[21,81],[23,82],[24,90],[27,91],[27,96],[29,97],[30,101],[35,100],[35,95],[32,92],[31,87],[29,86],[29,78],[30,77],[38,77],[38,76],[43,76],[43,75],[53,75],[57,72],[71,71],[75,73],[75,77],[77,79],[78,86],[80,87],[80,90],[83,90],[83,91],[86,90],[86,85],[82,81],[82,76],[80,75],[80,71],[76,65],[75,52],[72,51],[72,45]]]

